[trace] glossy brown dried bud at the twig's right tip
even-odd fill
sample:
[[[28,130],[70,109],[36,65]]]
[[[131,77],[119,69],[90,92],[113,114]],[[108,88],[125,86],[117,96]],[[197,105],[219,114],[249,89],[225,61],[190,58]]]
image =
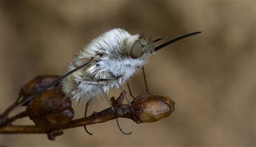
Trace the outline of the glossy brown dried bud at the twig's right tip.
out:
[[[156,122],[170,116],[174,111],[174,102],[169,97],[138,97],[132,102],[136,119],[139,123]],[[131,116],[130,116],[131,117]],[[131,117],[132,118],[132,117]]]

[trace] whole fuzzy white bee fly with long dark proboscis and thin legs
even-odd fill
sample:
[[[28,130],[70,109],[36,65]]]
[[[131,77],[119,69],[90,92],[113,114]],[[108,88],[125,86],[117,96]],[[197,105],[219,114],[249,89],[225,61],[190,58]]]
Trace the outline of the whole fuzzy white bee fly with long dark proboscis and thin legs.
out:
[[[107,93],[111,88],[119,88],[122,93],[125,93],[122,85],[136,74],[140,68],[143,69],[146,83],[143,67],[148,58],[152,57],[161,48],[198,33],[200,32],[189,33],[156,46],[156,42],[164,38],[152,40],[147,39],[142,33],[131,35],[124,29],[112,29],[93,39],[66,66],[64,76],[51,83],[51,85],[42,88],[39,93],[60,82],[60,88],[66,96],[76,103],[86,103],[85,115],[90,102],[98,100],[100,94],[105,96],[112,110],[115,111],[107,98]],[[132,95],[128,82],[127,85]],[[146,90],[149,93],[147,85]],[[26,97],[15,108],[22,106],[22,104],[30,101],[36,95]],[[126,95],[125,98],[130,104]],[[86,132],[88,132],[87,129]],[[90,132],[88,133],[90,134]],[[123,133],[131,134],[131,132]]]

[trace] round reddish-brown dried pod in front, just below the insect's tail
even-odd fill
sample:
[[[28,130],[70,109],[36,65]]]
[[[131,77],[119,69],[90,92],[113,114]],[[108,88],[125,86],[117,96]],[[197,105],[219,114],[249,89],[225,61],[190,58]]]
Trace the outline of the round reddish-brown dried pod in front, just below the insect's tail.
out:
[[[71,104],[71,100],[65,99],[58,88],[53,88],[35,97],[26,110],[37,127],[51,130],[72,120],[74,111]]]

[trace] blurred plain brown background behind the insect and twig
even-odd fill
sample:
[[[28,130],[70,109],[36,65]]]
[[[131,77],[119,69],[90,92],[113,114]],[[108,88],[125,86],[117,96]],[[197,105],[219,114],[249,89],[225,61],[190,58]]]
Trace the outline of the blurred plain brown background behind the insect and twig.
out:
[[[112,28],[154,38],[203,33],[165,47],[145,67],[153,94],[176,110],[156,123],[120,119],[46,135],[0,135],[0,146],[255,146],[255,1],[1,1],[0,113],[36,75],[61,74],[82,46]],[[133,93],[145,93],[143,76]],[[125,87],[126,88],[126,87]],[[127,88],[126,88],[127,89]],[[113,90],[109,96],[117,96]],[[90,108],[108,107],[104,99]],[[84,106],[75,107],[76,118]],[[17,121],[32,124],[28,118]],[[16,123],[16,124],[17,124]]]

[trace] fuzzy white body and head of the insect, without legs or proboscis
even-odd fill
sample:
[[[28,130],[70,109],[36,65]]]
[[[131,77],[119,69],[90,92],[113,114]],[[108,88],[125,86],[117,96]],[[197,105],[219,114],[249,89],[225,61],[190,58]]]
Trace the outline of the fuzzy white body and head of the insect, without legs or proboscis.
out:
[[[133,47],[136,41],[141,44],[142,51],[135,53],[139,57],[134,59],[131,56],[131,50],[139,51]],[[98,81],[99,79],[113,79],[120,76],[117,80],[122,85],[145,64],[148,57],[154,54],[154,48],[153,41],[146,40],[142,34],[131,35],[123,29],[107,31],[84,47],[75,57],[73,64],[68,64],[66,73],[76,68],[74,63],[79,64],[80,60],[92,60],[86,68],[63,79],[62,91],[66,95],[69,94],[71,100],[76,103],[98,100],[99,95],[102,94],[98,83],[105,93],[108,93],[111,88],[118,88],[115,80]]]

